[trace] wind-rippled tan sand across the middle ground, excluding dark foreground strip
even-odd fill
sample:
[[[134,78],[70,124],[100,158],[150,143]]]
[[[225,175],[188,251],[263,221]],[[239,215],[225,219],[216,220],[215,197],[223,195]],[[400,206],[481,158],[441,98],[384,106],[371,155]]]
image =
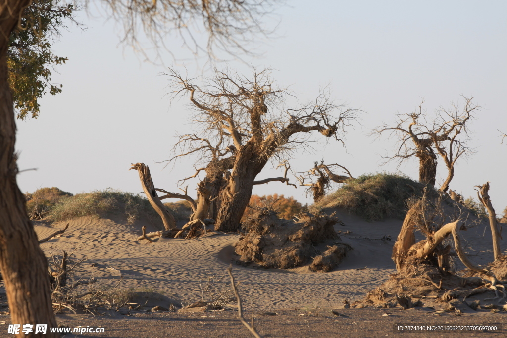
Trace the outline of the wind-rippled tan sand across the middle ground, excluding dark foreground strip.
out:
[[[402,220],[367,222],[340,210],[337,216],[345,225],[335,225],[341,241],[350,251],[342,264],[328,273],[296,269],[252,269],[233,266],[246,310],[281,308],[341,308],[343,299],[351,303],[384,282],[395,272],[390,258],[392,246]],[[152,289],[169,296],[175,306],[200,299],[199,279],[221,276],[231,264],[238,234],[209,232],[207,236],[186,240],[158,238],[148,244],[137,241],[138,222],[129,226],[121,220],[82,217],[69,221],[61,236],[41,244],[47,256],[74,252],[76,258],[87,258],[79,273],[93,275],[99,283],[114,284],[121,275],[122,287]],[[52,227],[35,225],[39,238],[50,235],[64,223]],[[147,224],[147,230],[156,230]],[[492,260],[491,236],[486,222],[461,232],[471,260],[486,264]],[[507,247],[507,241],[501,247]],[[228,278],[223,279],[223,283]],[[168,305],[166,305],[168,306]]]

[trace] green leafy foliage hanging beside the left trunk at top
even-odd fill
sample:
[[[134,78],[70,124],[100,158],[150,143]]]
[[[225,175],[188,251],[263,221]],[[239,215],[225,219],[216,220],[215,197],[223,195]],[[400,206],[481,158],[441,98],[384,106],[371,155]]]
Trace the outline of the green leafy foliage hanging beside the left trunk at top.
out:
[[[51,83],[51,69],[68,59],[51,52],[51,44],[66,28],[66,19],[74,21],[76,5],[62,4],[60,0],[39,0],[25,10],[20,25],[10,36],[8,60],[9,85],[14,108],[19,119],[39,116],[38,99],[49,91],[56,95],[61,84]],[[19,27],[22,27],[20,29]]]

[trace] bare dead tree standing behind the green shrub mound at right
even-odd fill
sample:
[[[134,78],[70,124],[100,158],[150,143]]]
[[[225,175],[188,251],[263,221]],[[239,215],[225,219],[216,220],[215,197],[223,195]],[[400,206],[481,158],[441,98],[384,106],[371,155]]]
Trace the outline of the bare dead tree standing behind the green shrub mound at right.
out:
[[[453,105],[451,109],[441,107],[432,122],[428,122],[427,112],[422,106],[412,114],[397,115],[398,123],[394,127],[381,125],[373,133],[379,136],[390,133],[389,137],[398,140],[397,153],[387,157],[387,161],[397,159],[400,163],[415,156],[419,159],[419,181],[433,187],[437,176],[437,155],[440,155],[448,169],[448,174],[440,190],[445,192],[454,176],[454,164],[462,155],[472,152],[466,144],[470,141],[467,122],[474,118],[474,112],[480,107],[465,100],[462,109]]]

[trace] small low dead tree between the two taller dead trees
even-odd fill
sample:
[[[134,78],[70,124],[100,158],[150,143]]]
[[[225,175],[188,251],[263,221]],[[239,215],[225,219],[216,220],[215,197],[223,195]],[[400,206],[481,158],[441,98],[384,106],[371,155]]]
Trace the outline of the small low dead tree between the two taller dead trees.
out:
[[[338,175],[333,172],[333,167],[340,167],[345,171],[348,176]],[[354,178],[350,174],[347,168],[341,166],[337,163],[333,164],[324,164],[324,160],[320,161],[320,163],[315,162],[312,169],[305,171],[302,173],[297,179],[301,186],[308,186],[306,190],[306,196],[311,194],[313,196],[313,201],[317,202],[322,197],[324,197],[325,193],[329,191],[331,187],[331,183],[344,183],[347,179]],[[309,180],[309,183],[305,183],[306,180]]]

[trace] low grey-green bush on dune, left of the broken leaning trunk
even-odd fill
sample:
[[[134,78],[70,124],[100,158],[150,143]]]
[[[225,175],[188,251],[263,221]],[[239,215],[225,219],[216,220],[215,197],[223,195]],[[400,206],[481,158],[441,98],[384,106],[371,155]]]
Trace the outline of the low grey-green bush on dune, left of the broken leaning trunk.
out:
[[[159,221],[155,210],[147,199],[132,193],[107,188],[91,193],[62,197],[49,212],[53,221],[65,221],[71,218],[90,216],[94,218],[114,214],[124,214],[127,224],[134,223],[141,214],[153,221]]]

